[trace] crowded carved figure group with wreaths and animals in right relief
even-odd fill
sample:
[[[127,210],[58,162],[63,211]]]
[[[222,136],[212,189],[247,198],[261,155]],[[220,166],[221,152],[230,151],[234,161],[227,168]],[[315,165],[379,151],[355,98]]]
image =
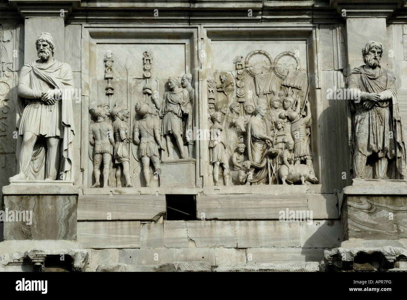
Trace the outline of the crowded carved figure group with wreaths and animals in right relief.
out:
[[[310,84],[298,56],[284,51],[273,60],[253,50],[233,62],[233,72],[207,72],[208,106],[214,102],[215,111],[208,107],[214,185],[222,185],[220,174],[223,185],[317,183]]]

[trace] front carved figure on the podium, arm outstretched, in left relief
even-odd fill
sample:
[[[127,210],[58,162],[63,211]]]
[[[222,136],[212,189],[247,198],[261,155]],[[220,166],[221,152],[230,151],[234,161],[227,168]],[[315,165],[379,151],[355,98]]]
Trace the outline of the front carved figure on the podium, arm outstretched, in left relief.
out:
[[[166,137],[168,157],[173,157],[173,143],[171,142],[171,135],[173,135],[177,141],[181,158],[186,159],[188,154],[184,151],[184,142],[182,141],[182,117],[191,113],[189,93],[186,89],[178,86],[179,79],[176,77],[168,78],[168,85],[170,91],[164,93],[162,102],[159,102],[154,94],[151,97],[159,110],[160,118],[162,118],[161,133]]]

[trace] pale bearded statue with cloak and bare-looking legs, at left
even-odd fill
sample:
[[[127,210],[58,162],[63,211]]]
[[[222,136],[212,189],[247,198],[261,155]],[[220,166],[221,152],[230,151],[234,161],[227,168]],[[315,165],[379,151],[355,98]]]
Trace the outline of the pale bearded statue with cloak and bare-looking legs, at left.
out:
[[[67,63],[53,58],[55,43],[49,33],[41,33],[35,46],[39,59],[25,64],[18,80],[18,96],[24,101],[17,124],[22,145],[19,173],[9,180],[29,179],[33,148],[41,136],[45,137],[47,147],[45,180],[60,178],[59,174],[63,180],[73,180],[72,70]]]

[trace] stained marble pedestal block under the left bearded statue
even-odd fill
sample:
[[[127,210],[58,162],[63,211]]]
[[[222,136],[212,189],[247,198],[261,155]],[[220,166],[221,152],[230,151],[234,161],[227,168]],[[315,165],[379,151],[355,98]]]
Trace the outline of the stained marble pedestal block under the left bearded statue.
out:
[[[78,191],[73,182],[16,180],[2,188],[4,240],[76,240]]]

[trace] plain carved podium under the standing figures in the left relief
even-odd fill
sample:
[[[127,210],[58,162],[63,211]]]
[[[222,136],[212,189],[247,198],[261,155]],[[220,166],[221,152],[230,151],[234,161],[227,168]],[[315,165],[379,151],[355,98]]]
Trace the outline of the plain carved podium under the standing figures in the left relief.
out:
[[[195,159],[161,162],[160,187],[195,187]]]

